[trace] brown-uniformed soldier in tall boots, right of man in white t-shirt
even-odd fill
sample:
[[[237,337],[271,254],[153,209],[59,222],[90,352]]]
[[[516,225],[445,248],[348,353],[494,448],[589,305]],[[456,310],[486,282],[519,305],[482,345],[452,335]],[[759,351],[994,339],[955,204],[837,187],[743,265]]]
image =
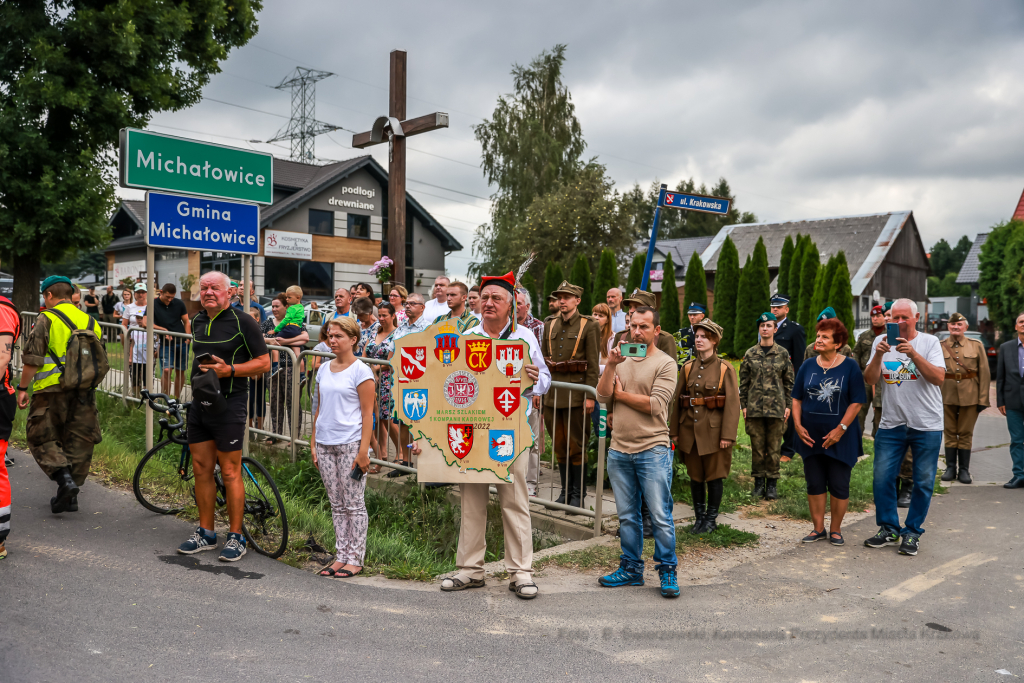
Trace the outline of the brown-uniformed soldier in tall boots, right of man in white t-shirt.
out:
[[[978,413],[988,408],[991,378],[985,345],[969,339],[967,318],[959,313],[949,316],[949,337],[942,340],[946,361],[946,381],[942,383],[942,408],[945,413],[946,471],[943,481],[956,479],[971,483],[971,443]]]

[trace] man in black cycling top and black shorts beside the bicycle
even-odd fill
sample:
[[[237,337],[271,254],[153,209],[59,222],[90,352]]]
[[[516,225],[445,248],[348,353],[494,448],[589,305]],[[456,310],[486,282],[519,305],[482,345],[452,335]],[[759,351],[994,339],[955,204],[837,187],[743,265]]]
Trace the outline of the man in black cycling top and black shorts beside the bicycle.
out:
[[[245,506],[242,444],[246,434],[248,378],[270,370],[270,352],[259,325],[230,306],[231,281],[226,274],[210,271],[200,278],[199,287],[203,311],[191,323],[196,360],[191,368],[193,402],[187,426],[199,528],[178,547],[178,552],[191,555],[217,548],[213,528],[217,484],[213,475],[219,463],[230,524],[220,559],[233,562],[246,554],[242,535]],[[215,373],[219,378],[219,395],[217,383],[201,378],[205,373]]]

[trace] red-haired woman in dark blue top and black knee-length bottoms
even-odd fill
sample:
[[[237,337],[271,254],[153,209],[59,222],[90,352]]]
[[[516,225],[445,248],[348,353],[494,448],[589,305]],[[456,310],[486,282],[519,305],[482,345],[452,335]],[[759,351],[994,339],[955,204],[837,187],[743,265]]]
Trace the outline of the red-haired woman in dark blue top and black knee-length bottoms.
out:
[[[857,413],[867,401],[864,376],[853,358],[839,353],[850,338],[837,318],[818,322],[814,350],[800,367],[793,387],[793,426],[799,437],[797,452],[804,459],[807,503],[814,529],[804,543],[826,538],[825,492],[831,496],[828,540],[843,545],[843,516],[850,500],[850,472],[860,453]]]

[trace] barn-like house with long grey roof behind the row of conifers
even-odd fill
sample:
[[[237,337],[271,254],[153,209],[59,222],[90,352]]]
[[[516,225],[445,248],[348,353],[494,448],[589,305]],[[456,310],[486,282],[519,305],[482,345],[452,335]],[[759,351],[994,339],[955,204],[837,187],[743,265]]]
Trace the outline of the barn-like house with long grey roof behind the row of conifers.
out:
[[[771,291],[776,291],[782,244],[788,236],[808,234],[817,245],[821,263],[839,251],[846,254],[853,290],[854,318],[869,318],[871,301],[905,297],[918,302],[922,316],[928,301],[928,256],[912,211],[892,211],[860,216],[837,216],[776,223],[737,223],[719,230],[701,253],[708,288],[715,288],[715,270],[725,238],[739,252],[739,262],[754,252],[759,239],[768,253]],[[787,293],[783,293],[787,294]],[[765,306],[768,302],[765,302]]]

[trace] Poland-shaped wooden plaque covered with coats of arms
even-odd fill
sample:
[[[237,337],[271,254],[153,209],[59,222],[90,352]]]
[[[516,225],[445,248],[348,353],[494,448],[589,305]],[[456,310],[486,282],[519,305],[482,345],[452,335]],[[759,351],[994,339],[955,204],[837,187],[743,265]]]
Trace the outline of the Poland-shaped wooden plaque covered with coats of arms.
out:
[[[529,345],[462,335],[444,321],[395,342],[395,410],[420,439],[421,481],[511,483],[512,463],[534,445],[523,392]]]

